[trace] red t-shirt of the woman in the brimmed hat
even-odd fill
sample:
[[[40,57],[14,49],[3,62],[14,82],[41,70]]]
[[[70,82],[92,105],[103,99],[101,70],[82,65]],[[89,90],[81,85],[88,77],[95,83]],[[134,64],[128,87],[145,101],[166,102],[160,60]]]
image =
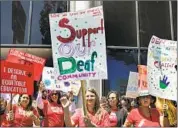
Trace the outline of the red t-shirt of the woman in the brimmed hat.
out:
[[[150,117],[145,117],[142,112],[136,108],[133,109],[127,116],[127,121],[132,123],[135,127],[160,127],[160,114],[157,109],[150,109]]]

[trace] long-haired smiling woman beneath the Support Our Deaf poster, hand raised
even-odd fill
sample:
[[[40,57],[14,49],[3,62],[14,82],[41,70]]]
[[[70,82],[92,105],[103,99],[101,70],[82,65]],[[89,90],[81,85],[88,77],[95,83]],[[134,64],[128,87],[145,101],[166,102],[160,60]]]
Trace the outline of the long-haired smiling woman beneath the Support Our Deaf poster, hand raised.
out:
[[[84,116],[81,108],[76,109],[70,116],[70,101],[63,97],[61,103],[64,107],[64,119],[67,127],[108,127],[110,126],[109,114],[106,110],[100,109],[99,96],[94,89],[88,89],[85,93],[87,115]]]

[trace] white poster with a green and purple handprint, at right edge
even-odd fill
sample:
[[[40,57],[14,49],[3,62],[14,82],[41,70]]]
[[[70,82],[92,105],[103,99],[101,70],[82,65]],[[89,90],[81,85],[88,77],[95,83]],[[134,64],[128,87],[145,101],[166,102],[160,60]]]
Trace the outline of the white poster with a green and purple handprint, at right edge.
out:
[[[177,41],[152,36],[147,66],[151,95],[177,101]]]

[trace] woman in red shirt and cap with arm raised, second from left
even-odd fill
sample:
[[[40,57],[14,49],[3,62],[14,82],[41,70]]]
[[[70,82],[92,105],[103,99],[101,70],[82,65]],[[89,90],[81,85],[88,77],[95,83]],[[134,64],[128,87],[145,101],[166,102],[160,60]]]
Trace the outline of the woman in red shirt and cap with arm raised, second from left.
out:
[[[42,91],[44,84],[39,84],[39,92],[37,96],[37,106],[43,110],[44,119],[43,127],[64,127],[64,110],[60,102],[61,94],[55,90],[51,90],[48,94],[48,100],[42,100]]]

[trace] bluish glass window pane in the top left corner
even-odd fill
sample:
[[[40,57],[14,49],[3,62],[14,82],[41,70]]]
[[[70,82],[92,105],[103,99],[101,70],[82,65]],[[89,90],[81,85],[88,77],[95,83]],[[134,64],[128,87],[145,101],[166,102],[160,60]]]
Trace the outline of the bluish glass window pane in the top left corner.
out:
[[[30,1],[1,1],[1,44],[26,44]]]

